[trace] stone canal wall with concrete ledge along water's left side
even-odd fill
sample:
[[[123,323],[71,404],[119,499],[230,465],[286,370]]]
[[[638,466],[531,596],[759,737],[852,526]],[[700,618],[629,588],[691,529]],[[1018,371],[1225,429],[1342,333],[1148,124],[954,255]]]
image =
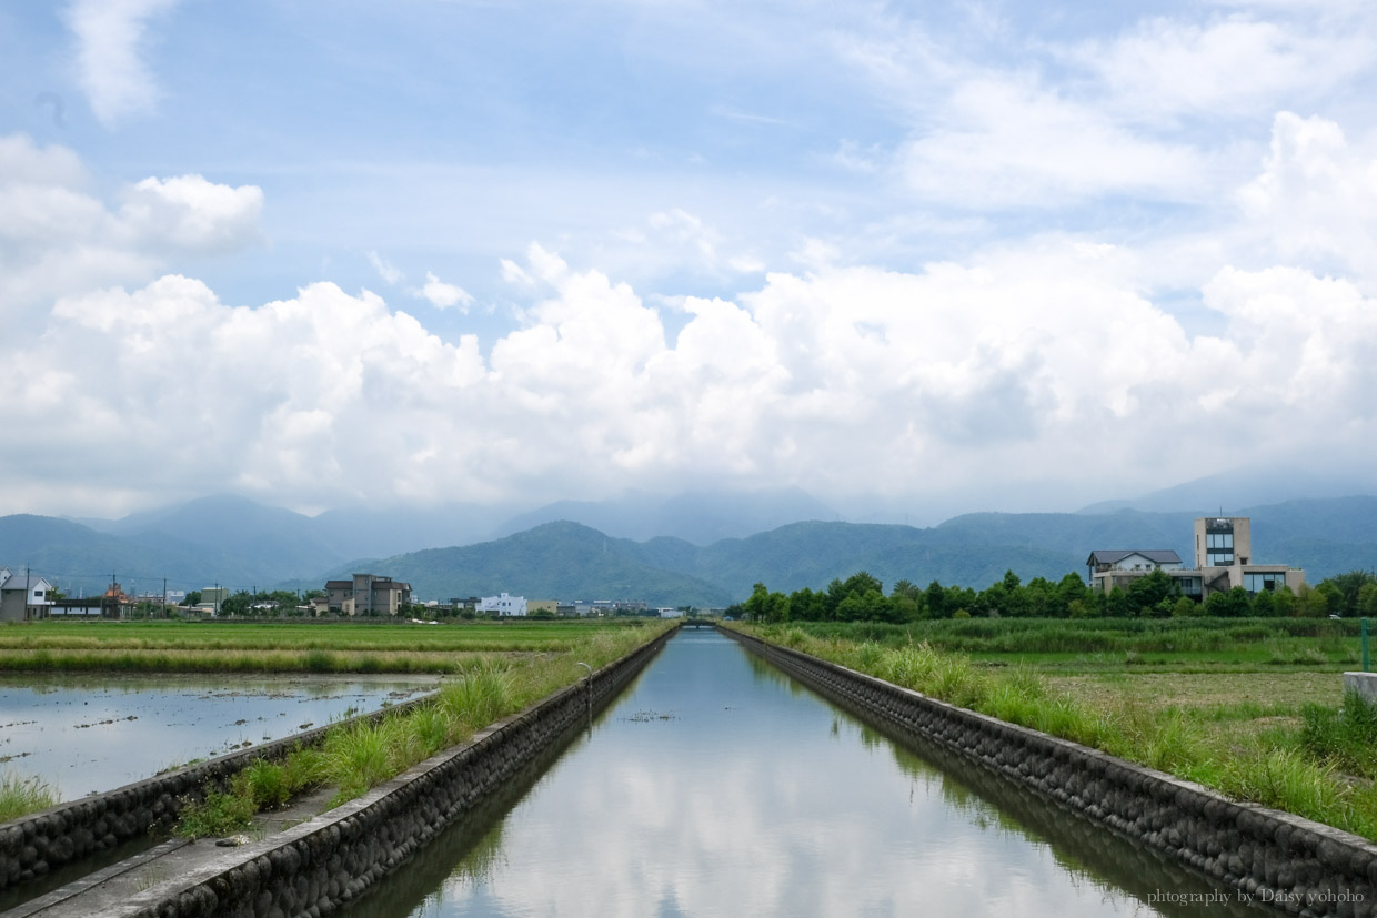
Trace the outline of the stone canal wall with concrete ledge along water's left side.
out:
[[[262,841],[220,849],[185,875],[120,901],[101,903],[98,914],[112,918],[329,914],[402,866],[509,775],[584,724],[589,710],[606,706],[676,630],[665,630],[588,680],[552,692],[358,800]]]

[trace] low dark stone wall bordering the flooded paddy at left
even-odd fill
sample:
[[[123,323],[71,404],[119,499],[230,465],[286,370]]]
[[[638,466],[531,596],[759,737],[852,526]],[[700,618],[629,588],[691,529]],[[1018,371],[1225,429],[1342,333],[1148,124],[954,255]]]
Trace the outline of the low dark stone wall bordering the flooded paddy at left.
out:
[[[376,720],[421,705],[428,698],[416,698],[351,720]],[[224,790],[230,778],[256,760],[275,761],[297,746],[315,745],[325,739],[329,728],[317,727],[241,749],[4,823],[0,826],[0,889],[36,879],[63,864],[171,826],[189,801],[204,800],[208,787]]]

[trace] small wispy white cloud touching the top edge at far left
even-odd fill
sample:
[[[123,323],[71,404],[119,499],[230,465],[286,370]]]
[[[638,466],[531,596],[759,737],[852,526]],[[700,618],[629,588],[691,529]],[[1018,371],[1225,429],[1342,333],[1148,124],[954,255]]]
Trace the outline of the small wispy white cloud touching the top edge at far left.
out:
[[[147,22],[176,0],[73,0],[65,19],[77,40],[77,78],[106,125],[150,111],[158,89],[139,56]]]

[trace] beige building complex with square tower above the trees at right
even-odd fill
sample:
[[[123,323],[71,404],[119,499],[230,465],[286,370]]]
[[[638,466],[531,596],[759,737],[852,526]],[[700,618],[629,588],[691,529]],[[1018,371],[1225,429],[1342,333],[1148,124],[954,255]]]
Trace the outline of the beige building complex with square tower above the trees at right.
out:
[[[1086,566],[1091,588],[1108,593],[1115,586],[1126,589],[1139,577],[1155,570],[1166,571],[1184,596],[1203,601],[1212,593],[1242,586],[1249,596],[1289,586],[1293,592],[1305,582],[1305,571],[1287,564],[1253,562],[1253,527],[1246,516],[1202,516],[1195,520],[1194,567],[1184,567],[1176,552],[1165,549],[1099,549],[1091,552]]]

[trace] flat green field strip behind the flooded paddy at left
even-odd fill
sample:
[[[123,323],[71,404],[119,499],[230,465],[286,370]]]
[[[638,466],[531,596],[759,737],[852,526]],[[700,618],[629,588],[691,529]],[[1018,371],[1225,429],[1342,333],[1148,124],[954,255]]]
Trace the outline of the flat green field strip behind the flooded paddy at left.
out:
[[[476,657],[562,654],[599,632],[651,623],[22,622],[0,626],[0,672],[446,673]]]

